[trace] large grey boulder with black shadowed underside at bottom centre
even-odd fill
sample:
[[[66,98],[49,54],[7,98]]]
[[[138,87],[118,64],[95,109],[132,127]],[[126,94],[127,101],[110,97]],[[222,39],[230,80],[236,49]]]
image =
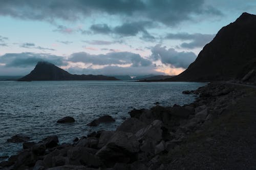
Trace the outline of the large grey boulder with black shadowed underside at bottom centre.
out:
[[[139,141],[132,133],[116,131],[109,142],[96,155],[110,162],[130,162],[139,152]]]

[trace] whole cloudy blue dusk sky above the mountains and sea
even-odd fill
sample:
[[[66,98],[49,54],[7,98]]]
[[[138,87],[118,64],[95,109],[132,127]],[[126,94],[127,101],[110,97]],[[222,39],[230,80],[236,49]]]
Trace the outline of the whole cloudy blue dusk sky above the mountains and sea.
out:
[[[38,61],[72,74],[178,75],[255,0],[0,1],[0,76]]]

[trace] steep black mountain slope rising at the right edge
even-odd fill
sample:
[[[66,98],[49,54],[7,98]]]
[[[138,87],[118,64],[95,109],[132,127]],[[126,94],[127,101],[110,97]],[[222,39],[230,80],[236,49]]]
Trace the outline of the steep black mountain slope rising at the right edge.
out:
[[[166,81],[256,80],[256,15],[243,13],[223,27],[180,75]]]

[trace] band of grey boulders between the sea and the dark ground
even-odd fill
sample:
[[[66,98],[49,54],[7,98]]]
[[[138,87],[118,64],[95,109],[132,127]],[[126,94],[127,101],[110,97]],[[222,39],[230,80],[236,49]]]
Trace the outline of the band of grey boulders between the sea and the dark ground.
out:
[[[57,136],[24,142],[24,150],[0,163],[3,169],[172,169],[191,134],[202,132],[245,91],[227,83],[209,83],[197,90],[195,102],[132,110],[116,131],[98,131],[58,144]],[[99,120],[97,120],[99,121]],[[73,120],[72,120],[73,122]],[[98,124],[96,122],[95,124]],[[92,125],[94,126],[94,125]],[[210,139],[209,139],[210,140]],[[178,168],[179,169],[179,168]]]

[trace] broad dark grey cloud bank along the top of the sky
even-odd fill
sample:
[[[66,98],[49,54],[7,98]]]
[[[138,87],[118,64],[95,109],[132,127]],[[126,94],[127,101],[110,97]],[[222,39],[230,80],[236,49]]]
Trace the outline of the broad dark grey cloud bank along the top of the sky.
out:
[[[28,0],[0,1],[0,15],[22,19],[47,20],[54,22],[56,18],[78,20],[95,13],[107,13],[129,18],[141,17],[174,26],[192,15],[221,15],[212,7],[205,6],[204,0]]]

